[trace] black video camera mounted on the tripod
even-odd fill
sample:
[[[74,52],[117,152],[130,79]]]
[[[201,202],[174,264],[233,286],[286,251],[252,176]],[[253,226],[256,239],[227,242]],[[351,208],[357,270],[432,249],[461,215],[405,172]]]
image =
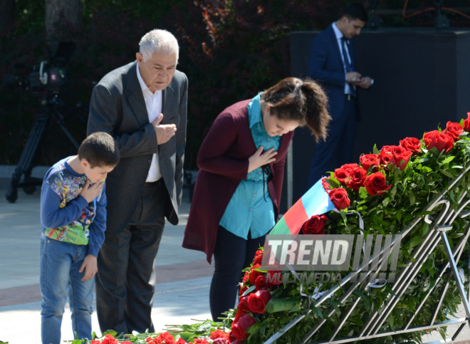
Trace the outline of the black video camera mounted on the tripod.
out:
[[[47,61],[33,66],[29,75],[4,75],[4,87],[20,86],[31,93],[60,93],[66,85],[66,63],[75,51],[73,42],[48,42],[45,53]],[[16,68],[23,67],[16,65]]]

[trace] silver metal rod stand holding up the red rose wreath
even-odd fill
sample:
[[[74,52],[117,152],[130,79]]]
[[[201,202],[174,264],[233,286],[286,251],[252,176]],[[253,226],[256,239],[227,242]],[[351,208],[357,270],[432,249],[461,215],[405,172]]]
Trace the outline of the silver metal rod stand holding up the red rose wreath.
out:
[[[345,311],[342,311],[342,317],[338,321],[338,325],[333,328],[333,332],[330,335],[330,338],[328,340],[323,340],[323,341],[318,341],[315,342],[315,344],[326,344],[326,343],[352,343],[356,342],[358,340],[367,340],[367,339],[374,339],[374,338],[380,338],[380,337],[385,337],[385,336],[393,336],[397,335],[400,333],[410,333],[410,332],[416,332],[416,331],[422,331],[422,330],[431,330],[435,328],[441,328],[449,325],[459,325],[459,328],[457,329],[456,333],[452,336],[452,338],[449,338],[447,340],[441,340],[440,343],[449,343],[458,337],[458,335],[461,333],[461,330],[464,328],[466,324],[469,324],[470,320],[470,306],[469,306],[469,301],[466,296],[466,291],[464,289],[464,284],[461,281],[459,271],[457,271],[457,266],[456,266],[456,261],[459,261],[461,254],[464,251],[465,244],[467,240],[469,239],[470,236],[470,224],[469,226],[466,227],[466,231],[464,235],[461,237],[460,241],[456,246],[454,246],[454,251],[451,250],[451,246],[449,245],[449,240],[447,239],[447,234],[446,231],[449,231],[452,229],[452,222],[456,219],[457,216],[464,218],[468,217],[470,215],[470,210],[466,210],[464,212],[464,209],[469,207],[470,204],[470,198],[467,195],[467,192],[463,192],[461,194],[461,197],[459,197],[457,203],[459,204],[459,207],[457,209],[452,209],[450,207],[450,202],[447,200],[446,195],[448,192],[454,187],[459,180],[464,177],[467,172],[470,170],[470,163],[466,166],[464,171],[459,174],[450,184],[447,189],[444,189],[440,194],[437,195],[437,197],[434,197],[434,199],[429,202],[427,207],[424,207],[423,211],[429,212],[432,211],[432,209],[440,206],[443,206],[443,209],[437,214],[435,217],[434,221],[429,219],[429,215],[425,217],[415,217],[411,224],[407,226],[403,231],[401,231],[399,234],[401,234],[402,238],[407,236],[409,232],[416,226],[419,221],[425,221],[429,226],[429,231],[428,233],[424,236],[422,239],[421,243],[414,249],[412,252],[412,259],[409,259],[407,262],[407,267],[403,268],[402,271],[399,271],[399,275],[395,279],[395,283],[393,283],[392,289],[393,294],[389,294],[387,301],[383,304],[382,308],[380,310],[374,311],[367,320],[365,320],[364,325],[362,325],[362,328],[360,332],[352,337],[348,338],[336,338],[336,335],[340,332],[341,328],[343,325],[346,323],[348,320],[350,314],[352,311],[355,309],[357,304],[360,301],[359,296],[352,295],[352,293],[355,290],[361,291],[362,293],[366,292],[367,289],[369,288],[369,285],[367,283],[350,283],[350,281],[354,281],[353,278],[357,276],[357,274],[361,273],[362,274],[367,274],[370,275],[373,273],[372,271],[362,271],[365,270],[365,266],[369,266],[372,263],[372,257],[370,257],[370,261],[366,261],[363,263],[361,266],[359,266],[358,271],[349,273],[348,276],[343,278],[343,280],[340,281],[339,285],[333,286],[333,288],[330,288],[329,291],[327,291],[323,296],[318,298],[315,302],[312,302],[313,307],[318,307],[320,304],[328,300],[328,298],[335,293],[335,291],[338,291],[339,288],[349,288],[343,293],[343,296],[338,299],[340,303],[345,305],[345,301],[351,301],[350,306],[348,306]],[[392,241],[392,247],[390,249],[393,249],[395,246],[395,239]],[[399,300],[404,297],[405,291],[407,291],[407,288],[409,287],[410,283],[414,280],[414,278],[417,276],[419,273],[419,270],[423,266],[424,262],[427,260],[429,255],[432,254],[434,249],[437,247],[438,244],[444,244],[444,248],[447,252],[447,264],[444,264],[441,266],[439,274],[437,275],[437,281],[434,284],[432,288],[429,288],[429,291],[427,291],[426,296],[424,296],[424,299],[422,302],[419,304],[417,310],[414,312],[414,315],[408,320],[407,325],[404,326],[402,329],[397,329],[396,331],[392,330],[387,330],[387,331],[382,331],[380,332],[380,328],[382,328],[382,325],[385,323],[387,318],[390,316],[390,313],[392,313],[392,310],[397,306],[397,303],[399,303]],[[379,259],[379,264],[382,262],[384,259],[388,259],[388,254],[384,254],[386,251],[385,247],[382,247],[382,250],[380,251],[380,259]],[[470,259],[470,257],[469,257]],[[450,271],[447,269],[450,268]],[[445,273],[445,276],[444,276]],[[466,311],[466,318],[457,318],[454,320],[445,320],[441,321],[439,323],[434,323],[434,320],[436,319],[437,313],[439,312],[439,308],[442,305],[442,301],[444,300],[444,296],[446,294],[447,288],[449,288],[449,280],[450,276],[454,276],[454,280],[457,283],[457,288],[459,289],[459,294],[461,296],[462,302],[464,303],[464,308]],[[439,298],[437,300],[437,303],[434,305],[434,311],[432,313],[432,316],[429,317],[429,323],[424,324],[424,325],[417,325],[417,326],[411,326],[413,323],[413,320],[415,316],[419,313],[419,311],[422,310],[422,307],[424,306],[424,303],[426,303],[427,299],[431,295],[431,293],[434,291],[436,286],[440,281],[445,281],[444,288],[442,288],[442,291],[440,291]],[[469,291],[470,293],[470,291]],[[349,302],[348,302],[349,303]],[[343,306],[344,307],[344,306]],[[305,309],[305,313],[310,313],[312,311],[312,308]],[[328,311],[325,312],[327,316],[333,316],[335,313],[335,308],[332,306],[331,308],[328,309]],[[278,331],[278,333],[275,333],[271,338],[266,340],[264,344],[271,344],[275,342],[278,338],[281,338],[282,335],[287,333],[289,330],[293,328],[294,325],[297,323],[301,322],[305,318],[305,315],[301,314],[297,318],[293,319],[290,323],[285,325],[281,330]],[[319,319],[318,323],[316,323],[313,328],[310,330],[307,335],[305,335],[301,341],[301,343],[310,343],[310,338],[312,338],[315,333],[317,333],[319,330],[321,330],[322,326],[326,323],[326,319]]]

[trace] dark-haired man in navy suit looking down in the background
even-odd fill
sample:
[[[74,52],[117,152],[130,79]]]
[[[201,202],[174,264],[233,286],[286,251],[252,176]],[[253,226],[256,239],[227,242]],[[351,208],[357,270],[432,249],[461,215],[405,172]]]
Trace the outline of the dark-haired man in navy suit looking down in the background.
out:
[[[354,44],[367,23],[367,11],[361,4],[346,7],[338,21],[315,37],[310,50],[308,75],[318,80],[329,98],[328,137],[316,145],[310,165],[309,187],[328,171],[352,162],[356,122],[359,119],[357,89],[367,89],[373,80],[356,71]]]

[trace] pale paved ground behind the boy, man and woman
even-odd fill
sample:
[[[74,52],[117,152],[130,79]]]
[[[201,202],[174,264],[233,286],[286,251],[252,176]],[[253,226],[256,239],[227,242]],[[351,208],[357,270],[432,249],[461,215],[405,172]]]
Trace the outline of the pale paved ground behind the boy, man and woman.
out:
[[[14,204],[6,202],[0,188],[0,340],[10,344],[40,342],[41,293],[39,292],[39,194],[19,192]],[[180,208],[179,226],[167,224],[157,255],[157,287],[152,319],[157,330],[164,325],[193,323],[210,318],[209,286],[213,266],[198,251],[181,247],[189,203]],[[71,313],[66,308],[62,338],[73,338]],[[464,318],[464,312],[458,314]],[[96,313],[93,330],[99,333]],[[449,327],[449,334],[455,328]],[[434,332],[424,342],[442,339]],[[470,340],[467,327],[459,340]],[[462,343],[463,344],[463,343]],[[466,344],[470,344],[466,343]]]

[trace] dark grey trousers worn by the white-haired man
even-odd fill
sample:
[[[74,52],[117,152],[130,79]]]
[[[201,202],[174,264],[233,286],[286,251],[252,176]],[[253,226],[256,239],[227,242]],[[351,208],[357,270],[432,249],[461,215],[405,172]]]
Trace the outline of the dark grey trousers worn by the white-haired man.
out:
[[[102,332],[154,332],[155,257],[164,227],[167,191],[147,183],[130,223],[119,234],[105,232],[98,254],[96,308]],[[109,214],[109,213],[108,213]]]

